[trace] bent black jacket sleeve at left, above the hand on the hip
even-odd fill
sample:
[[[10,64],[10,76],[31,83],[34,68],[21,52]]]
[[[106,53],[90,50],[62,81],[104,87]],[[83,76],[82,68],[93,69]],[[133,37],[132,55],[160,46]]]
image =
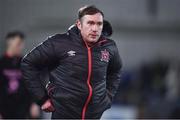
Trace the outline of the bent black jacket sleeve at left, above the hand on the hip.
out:
[[[56,60],[51,39],[48,38],[35,47],[24,56],[21,62],[23,80],[27,89],[39,105],[42,105],[48,99],[46,89],[40,79],[41,71]]]

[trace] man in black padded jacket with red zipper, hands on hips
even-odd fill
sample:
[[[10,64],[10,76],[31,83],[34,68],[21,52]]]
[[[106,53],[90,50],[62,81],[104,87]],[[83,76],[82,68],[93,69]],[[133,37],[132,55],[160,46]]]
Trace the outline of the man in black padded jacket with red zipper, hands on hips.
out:
[[[99,119],[110,108],[121,60],[115,42],[101,35],[103,19],[95,6],[80,8],[78,29],[48,38],[24,57],[28,89],[42,110],[53,112],[52,118]],[[46,68],[45,86],[39,75]]]

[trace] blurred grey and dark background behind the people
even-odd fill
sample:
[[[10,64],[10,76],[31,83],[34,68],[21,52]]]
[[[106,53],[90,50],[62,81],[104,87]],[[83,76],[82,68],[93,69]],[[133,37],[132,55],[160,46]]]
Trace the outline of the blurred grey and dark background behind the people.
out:
[[[180,0],[0,0],[0,54],[9,31],[26,35],[25,54],[66,32],[83,5],[104,12],[123,62],[118,93],[102,118],[180,118]]]

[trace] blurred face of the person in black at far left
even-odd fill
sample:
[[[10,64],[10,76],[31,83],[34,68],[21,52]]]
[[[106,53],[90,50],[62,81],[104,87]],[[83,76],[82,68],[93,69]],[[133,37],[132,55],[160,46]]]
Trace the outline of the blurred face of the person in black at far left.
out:
[[[8,49],[13,51],[14,55],[21,55],[23,48],[24,48],[24,42],[18,36],[8,41]]]

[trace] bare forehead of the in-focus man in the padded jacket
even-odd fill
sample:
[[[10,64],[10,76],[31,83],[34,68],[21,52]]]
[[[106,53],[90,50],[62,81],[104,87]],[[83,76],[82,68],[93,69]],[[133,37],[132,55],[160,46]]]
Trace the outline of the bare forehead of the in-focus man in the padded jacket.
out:
[[[93,15],[85,15],[83,16],[84,21],[94,21],[94,22],[103,22],[103,16],[101,13],[96,13]]]

